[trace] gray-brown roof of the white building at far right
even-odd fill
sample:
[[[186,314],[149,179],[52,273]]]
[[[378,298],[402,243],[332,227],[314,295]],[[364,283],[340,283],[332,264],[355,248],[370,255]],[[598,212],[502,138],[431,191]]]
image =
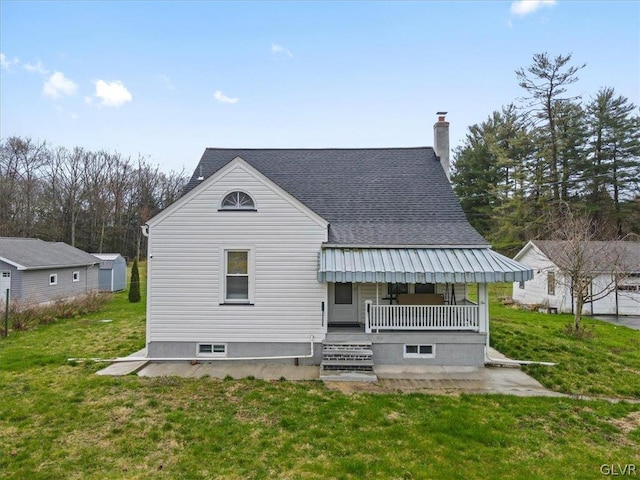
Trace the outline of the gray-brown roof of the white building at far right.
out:
[[[576,265],[576,256],[584,258],[585,270],[640,273],[640,243],[621,240],[570,242],[564,240],[532,240],[542,253],[559,268]]]

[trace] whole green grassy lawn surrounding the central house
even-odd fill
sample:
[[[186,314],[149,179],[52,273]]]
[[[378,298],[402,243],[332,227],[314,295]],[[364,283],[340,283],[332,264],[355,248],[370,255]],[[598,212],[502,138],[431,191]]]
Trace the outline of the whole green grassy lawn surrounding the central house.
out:
[[[492,305],[505,354],[556,390],[640,398],[640,332]],[[103,320],[111,320],[104,322]],[[0,478],[601,478],[640,464],[640,404],[352,394],[321,382],[101,377],[144,345],[144,298],[0,340]],[[594,365],[597,363],[597,366]],[[635,372],[635,373],[634,373]]]

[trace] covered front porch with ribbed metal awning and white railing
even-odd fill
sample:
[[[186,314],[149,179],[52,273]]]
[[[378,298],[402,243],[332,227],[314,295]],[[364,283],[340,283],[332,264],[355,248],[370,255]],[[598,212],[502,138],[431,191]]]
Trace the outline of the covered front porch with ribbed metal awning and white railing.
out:
[[[324,248],[318,266],[329,331],[368,334],[488,333],[488,284],[532,276],[489,248]]]

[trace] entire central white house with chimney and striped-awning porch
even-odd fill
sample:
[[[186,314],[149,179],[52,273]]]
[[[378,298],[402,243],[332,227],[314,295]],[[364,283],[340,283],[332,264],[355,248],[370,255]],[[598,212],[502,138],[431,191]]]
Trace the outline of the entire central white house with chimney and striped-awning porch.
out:
[[[532,271],[467,222],[448,129],[435,150],[206,149],[145,226],[148,356],[483,365],[488,283]]]

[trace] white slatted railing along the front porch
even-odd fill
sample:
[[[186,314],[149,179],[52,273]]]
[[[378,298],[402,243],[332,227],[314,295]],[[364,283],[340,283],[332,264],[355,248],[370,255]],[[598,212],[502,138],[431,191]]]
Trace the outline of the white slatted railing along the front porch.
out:
[[[365,331],[480,330],[477,305],[373,305],[365,302]]]

